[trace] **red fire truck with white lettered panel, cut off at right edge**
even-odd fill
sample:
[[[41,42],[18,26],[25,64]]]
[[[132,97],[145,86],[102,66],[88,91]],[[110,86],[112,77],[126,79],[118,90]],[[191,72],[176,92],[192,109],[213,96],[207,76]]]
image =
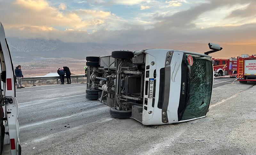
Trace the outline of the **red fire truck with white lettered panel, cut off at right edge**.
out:
[[[237,57],[237,80],[240,83],[247,83],[247,81],[256,81],[256,55],[248,57]]]

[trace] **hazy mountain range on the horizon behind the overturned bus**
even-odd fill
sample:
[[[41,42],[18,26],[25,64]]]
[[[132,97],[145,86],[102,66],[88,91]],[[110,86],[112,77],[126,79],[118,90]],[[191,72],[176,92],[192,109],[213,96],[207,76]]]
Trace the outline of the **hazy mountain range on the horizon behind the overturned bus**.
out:
[[[145,50],[151,48],[188,50],[204,53],[209,50],[206,43],[142,43],[142,44],[102,44],[102,43],[66,43],[60,40],[7,38],[13,57],[71,57],[84,59],[86,56],[103,56],[114,50]],[[211,54],[214,58],[237,57],[241,54],[256,54],[256,44],[232,45],[220,44],[223,50]]]

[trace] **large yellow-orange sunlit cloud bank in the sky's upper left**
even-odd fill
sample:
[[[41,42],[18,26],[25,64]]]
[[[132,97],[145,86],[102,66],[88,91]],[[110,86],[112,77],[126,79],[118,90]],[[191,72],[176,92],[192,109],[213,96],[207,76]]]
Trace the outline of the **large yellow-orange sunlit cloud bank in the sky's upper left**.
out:
[[[120,20],[111,12],[101,10],[80,9],[66,10],[63,3],[58,8],[50,6],[46,0],[16,0],[5,2],[9,12],[4,12],[1,19],[6,28],[11,27],[62,27],[62,29],[87,30],[105,24],[107,20]],[[61,11],[60,11],[61,10]],[[0,10],[1,13],[1,10]],[[47,30],[47,29],[45,29]]]

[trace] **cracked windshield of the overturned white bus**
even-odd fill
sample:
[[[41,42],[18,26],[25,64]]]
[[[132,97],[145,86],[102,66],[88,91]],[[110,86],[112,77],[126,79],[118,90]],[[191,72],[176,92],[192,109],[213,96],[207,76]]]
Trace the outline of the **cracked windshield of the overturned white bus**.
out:
[[[188,58],[190,54],[186,54]],[[208,57],[190,55],[193,58],[191,63],[187,63],[188,91],[190,93],[188,104],[181,120],[188,120],[204,116],[210,105],[212,94],[212,60]],[[188,60],[187,60],[188,61]]]

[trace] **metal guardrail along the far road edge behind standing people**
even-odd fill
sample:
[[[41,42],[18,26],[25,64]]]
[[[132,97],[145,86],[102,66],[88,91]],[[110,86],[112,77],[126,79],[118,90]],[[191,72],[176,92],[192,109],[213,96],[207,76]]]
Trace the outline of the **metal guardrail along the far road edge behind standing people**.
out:
[[[66,78],[66,75],[65,75]],[[71,75],[71,79],[76,78],[76,83],[78,83],[78,78],[85,78],[85,75]],[[56,80],[59,84],[60,76],[37,76],[37,77],[24,77],[22,81],[33,81],[33,86],[35,86],[35,81],[38,80]]]

